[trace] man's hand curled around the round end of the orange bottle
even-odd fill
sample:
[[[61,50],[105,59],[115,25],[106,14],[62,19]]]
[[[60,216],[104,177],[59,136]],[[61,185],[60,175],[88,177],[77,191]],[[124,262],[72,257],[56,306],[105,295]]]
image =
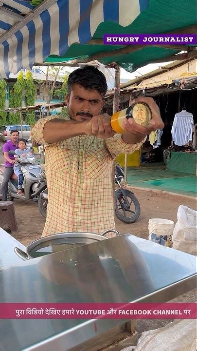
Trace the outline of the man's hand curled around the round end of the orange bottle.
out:
[[[132,104],[135,102],[144,102],[146,103],[152,113],[152,119],[150,120],[149,124],[146,127],[141,126],[140,124],[136,123],[133,118],[128,118],[123,123],[123,128],[126,132],[134,134],[136,137],[145,137],[145,135],[150,134],[157,129],[162,129],[164,127],[164,123],[161,119],[160,109],[153,98],[147,97],[140,97],[136,98],[132,101]]]

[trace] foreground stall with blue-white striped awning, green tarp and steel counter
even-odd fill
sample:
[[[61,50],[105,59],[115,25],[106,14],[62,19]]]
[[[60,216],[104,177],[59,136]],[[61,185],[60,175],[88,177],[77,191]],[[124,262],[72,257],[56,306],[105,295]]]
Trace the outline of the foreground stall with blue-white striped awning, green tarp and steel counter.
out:
[[[196,33],[194,0],[189,8],[185,0],[160,1],[159,5],[156,0],[137,0],[132,9],[129,1],[121,0],[77,3],[44,0],[36,8],[21,2],[10,0],[10,6],[5,8],[5,1],[2,1],[0,8],[0,19],[5,16],[7,21],[6,30],[1,31],[0,37],[2,78],[22,68],[31,69],[33,64],[68,65],[71,62],[79,65],[94,59],[105,65],[115,62],[113,67],[117,71],[121,66],[131,72],[153,61],[174,60],[174,55],[185,47],[166,44],[145,48],[119,45],[117,48],[103,44],[106,32],[161,33],[162,28],[166,33]],[[154,18],[153,10],[156,12]],[[6,16],[9,12],[11,15]],[[181,25],[180,18],[183,19]],[[194,49],[188,46],[186,56],[179,54],[176,59],[196,57],[197,50]],[[114,111],[120,108],[117,75],[115,87]],[[0,271],[1,303],[164,302],[193,289],[196,283],[195,257],[131,234],[92,244],[92,249],[86,245],[21,263],[17,257],[16,264],[13,258],[16,242],[11,244],[12,237],[2,230],[0,240],[1,260],[6,262]],[[12,256],[10,261],[8,256]],[[73,257],[79,264],[72,265]],[[163,270],[165,274],[162,275]],[[90,344],[98,350],[98,346],[109,345],[106,332],[111,336],[110,344],[117,341],[117,330],[123,338],[126,322],[58,318],[35,323],[33,319],[9,319],[0,321],[1,344],[6,351],[78,351],[88,350]]]

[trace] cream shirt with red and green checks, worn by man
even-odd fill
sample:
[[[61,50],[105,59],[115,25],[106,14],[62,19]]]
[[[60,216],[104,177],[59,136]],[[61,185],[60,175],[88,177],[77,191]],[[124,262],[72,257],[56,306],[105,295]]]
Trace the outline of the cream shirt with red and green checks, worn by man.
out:
[[[64,232],[101,234],[115,229],[111,171],[121,153],[132,154],[139,144],[126,144],[120,134],[100,139],[72,137],[57,144],[43,138],[41,118],[32,130],[33,139],[45,145],[48,184],[47,218],[42,236]],[[55,126],[55,124],[54,124]]]

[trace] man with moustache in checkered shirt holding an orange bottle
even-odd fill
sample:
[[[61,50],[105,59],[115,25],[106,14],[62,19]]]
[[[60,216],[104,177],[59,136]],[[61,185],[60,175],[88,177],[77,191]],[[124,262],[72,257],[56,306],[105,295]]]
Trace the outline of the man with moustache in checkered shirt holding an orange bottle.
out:
[[[63,232],[101,234],[114,229],[113,163],[121,153],[138,150],[147,134],[163,128],[152,98],[146,102],[152,120],[143,127],[132,118],[125,133],[115,134],[107,114],[100,115],[107,92],[106,78],[97,68],[85,66],[68,78],[66,102],[70,119],[41,118],[33,139],[45,145],[48,185],[47,218],[42,236]]]

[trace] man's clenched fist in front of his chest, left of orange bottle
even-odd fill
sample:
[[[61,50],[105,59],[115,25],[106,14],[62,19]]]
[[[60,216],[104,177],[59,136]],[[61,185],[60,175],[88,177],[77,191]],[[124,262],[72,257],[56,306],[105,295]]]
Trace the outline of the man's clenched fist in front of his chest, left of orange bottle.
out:
[[[110,116],[107,114],[93,116],[85,125],[85,134],[107,139],[114,136],[111,128]]]

